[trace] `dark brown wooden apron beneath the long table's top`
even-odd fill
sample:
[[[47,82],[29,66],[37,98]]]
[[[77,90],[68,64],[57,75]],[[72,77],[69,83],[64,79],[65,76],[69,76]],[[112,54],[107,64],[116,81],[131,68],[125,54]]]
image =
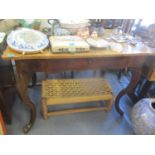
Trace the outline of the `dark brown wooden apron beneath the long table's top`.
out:
[[[21,72],[63,72],[69,70],[87,69],[122,69],[141,68],[145,57],[107,57],[79,59],[37,59],[17,60],[17,73]]]

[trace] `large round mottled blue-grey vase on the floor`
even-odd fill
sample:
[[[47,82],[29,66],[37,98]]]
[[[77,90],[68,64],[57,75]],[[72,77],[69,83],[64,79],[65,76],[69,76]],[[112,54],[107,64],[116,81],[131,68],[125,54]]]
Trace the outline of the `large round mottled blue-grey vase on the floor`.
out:
[[[155,134],[155,99],[138,101],[132,109],[132,125],[135,134]]]

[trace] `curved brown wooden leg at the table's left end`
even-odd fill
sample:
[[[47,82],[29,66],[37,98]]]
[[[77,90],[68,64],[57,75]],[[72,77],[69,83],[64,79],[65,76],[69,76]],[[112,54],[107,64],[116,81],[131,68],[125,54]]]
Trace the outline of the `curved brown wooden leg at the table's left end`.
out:
[[[22,103],[30,109],[30,121],[23,128],[24,133],[29,132],[29,130],[32,128],[36,119],[35,105],[28,96],[28,83],[29,83],[29,80],[31,79],[31,75],[32,74],[29,74],[29,73],[22,73],[22,74],[19,74],[17,77],[17,88],[18,88],[18,92],[22,100]]]

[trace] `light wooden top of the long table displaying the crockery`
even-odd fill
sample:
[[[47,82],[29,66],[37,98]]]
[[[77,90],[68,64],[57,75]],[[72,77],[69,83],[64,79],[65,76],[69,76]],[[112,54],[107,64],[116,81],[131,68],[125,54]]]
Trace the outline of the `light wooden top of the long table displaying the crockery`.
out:
[[[109,35],[111,31],[106,32]],[[88,52],[81,53],[52,53],[50,49],[45,49],[42,53],[21,54],[9,47],[2,54],[4,60],[27,60],[27,59],[73,59],[73,58],[98,58],[98,57],[120,57],[120,56],[155,56],[155,49],[138,44],[132,46],[123,43],[121,52],[111,49],[90,49]]]

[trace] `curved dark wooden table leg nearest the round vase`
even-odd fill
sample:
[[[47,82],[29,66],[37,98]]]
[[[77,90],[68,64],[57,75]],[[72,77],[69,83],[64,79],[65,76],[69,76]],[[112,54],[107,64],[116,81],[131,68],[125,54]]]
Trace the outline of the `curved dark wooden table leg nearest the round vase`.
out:
[[[120,101],[121,97],[127,93],[131,93],[133,91],[135,85],[137,84],[137,82],[140,80],[140,77],[141,77],[141,69],[132,69],[131,71],[132,71],[132,78],[131,78],[129,85],[127,86],[127,88],[123,89],[117,95],[116,100],[115,100],[115,108],[121,116],[124,114],[123,111],[120,109],[120,106],[119,106],[119,101]]]

